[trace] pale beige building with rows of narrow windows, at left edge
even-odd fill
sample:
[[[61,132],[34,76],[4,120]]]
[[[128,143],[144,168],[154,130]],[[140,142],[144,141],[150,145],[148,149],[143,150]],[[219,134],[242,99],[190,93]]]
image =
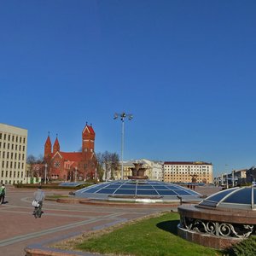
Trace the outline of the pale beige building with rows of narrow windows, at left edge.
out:
[[[0,181],[26,182],[27,130],[0,124]]]

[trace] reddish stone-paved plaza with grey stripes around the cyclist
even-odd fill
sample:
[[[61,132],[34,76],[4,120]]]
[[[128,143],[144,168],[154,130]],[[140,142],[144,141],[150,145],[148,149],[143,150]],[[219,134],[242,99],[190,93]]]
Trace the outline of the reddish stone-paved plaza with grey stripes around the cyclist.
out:
[[[172,207],[168,206],[139,207],[129,204],[129,207],[109,207],[44,201],[42,218],[34,218],[32,215],[34,191],[35,189],[16,189],[13,186],[7,186],[6,201],[8,203],[0,205],[0,255],[25,256],[26,247],[40,249],[52,241],[82,232],[100,230],[148,214],[172,210]],[[44,192],[46,195],[67,195],[69,191],[44,190]],[[70,252],[57,255],[92,254]]]

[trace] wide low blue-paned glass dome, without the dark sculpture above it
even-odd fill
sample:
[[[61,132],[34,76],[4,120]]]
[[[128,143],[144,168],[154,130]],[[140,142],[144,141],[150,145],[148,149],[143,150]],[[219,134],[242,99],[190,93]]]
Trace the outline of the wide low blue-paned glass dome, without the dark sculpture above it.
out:
[[[147,198],[161,201],[199,201],[200,194],[173,183],[163,183],[150,180],[118,180],[98,183],[90,187],[79,189],[75,193],[78,197],[114,200],[124,198]]]

